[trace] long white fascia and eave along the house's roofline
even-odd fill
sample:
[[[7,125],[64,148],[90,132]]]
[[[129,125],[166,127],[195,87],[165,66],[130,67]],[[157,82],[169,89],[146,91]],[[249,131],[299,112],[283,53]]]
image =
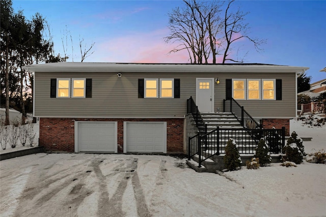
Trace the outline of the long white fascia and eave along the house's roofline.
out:
[[[309,68],[278,65],[196,65],[196,64],[115,64],[115,63],[53,63],[26,65],[31,72],[206,72],[206,73],[299,73]]]

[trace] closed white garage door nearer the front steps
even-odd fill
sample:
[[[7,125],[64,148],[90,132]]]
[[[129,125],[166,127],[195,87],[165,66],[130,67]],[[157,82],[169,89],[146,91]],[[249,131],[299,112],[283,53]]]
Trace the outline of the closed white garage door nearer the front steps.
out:
[[[124,122],[124,152],[167,152],[167,122]]]

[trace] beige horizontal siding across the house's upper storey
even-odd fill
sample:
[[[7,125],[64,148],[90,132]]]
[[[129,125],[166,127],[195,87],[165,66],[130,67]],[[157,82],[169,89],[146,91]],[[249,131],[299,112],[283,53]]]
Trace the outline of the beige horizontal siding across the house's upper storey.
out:
[[[223,111],[225,79],[282,79],[282,101],[239,101],[253,117],[295,117],[295,73],[35,73],[35,116],[38,117],[183,117],[186,100],[196,102],[196,78],[218,78],[214,111]],[[51,78],[91,78],[92,98],[50,98]],[[138,79],[179,78],[180,98],[138,98]]]

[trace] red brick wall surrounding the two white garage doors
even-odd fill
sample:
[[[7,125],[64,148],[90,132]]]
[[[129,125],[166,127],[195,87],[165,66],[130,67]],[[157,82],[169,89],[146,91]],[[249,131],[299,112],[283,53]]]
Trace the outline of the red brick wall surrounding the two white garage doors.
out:
[[[117,121],[118,152],[123,152],[124,121],[167,122],[167,152],[183,153],[183,118],[40,118],[39,145],[46,150],[74,151],[75,121]]]

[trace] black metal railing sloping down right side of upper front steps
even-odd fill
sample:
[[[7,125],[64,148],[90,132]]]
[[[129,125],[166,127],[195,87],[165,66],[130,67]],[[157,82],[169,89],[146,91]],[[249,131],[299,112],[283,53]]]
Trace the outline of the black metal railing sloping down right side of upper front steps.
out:
[[[261,125],[233,98],[223,100],[223,111],[231,112],[246,129],[261,129]]]

